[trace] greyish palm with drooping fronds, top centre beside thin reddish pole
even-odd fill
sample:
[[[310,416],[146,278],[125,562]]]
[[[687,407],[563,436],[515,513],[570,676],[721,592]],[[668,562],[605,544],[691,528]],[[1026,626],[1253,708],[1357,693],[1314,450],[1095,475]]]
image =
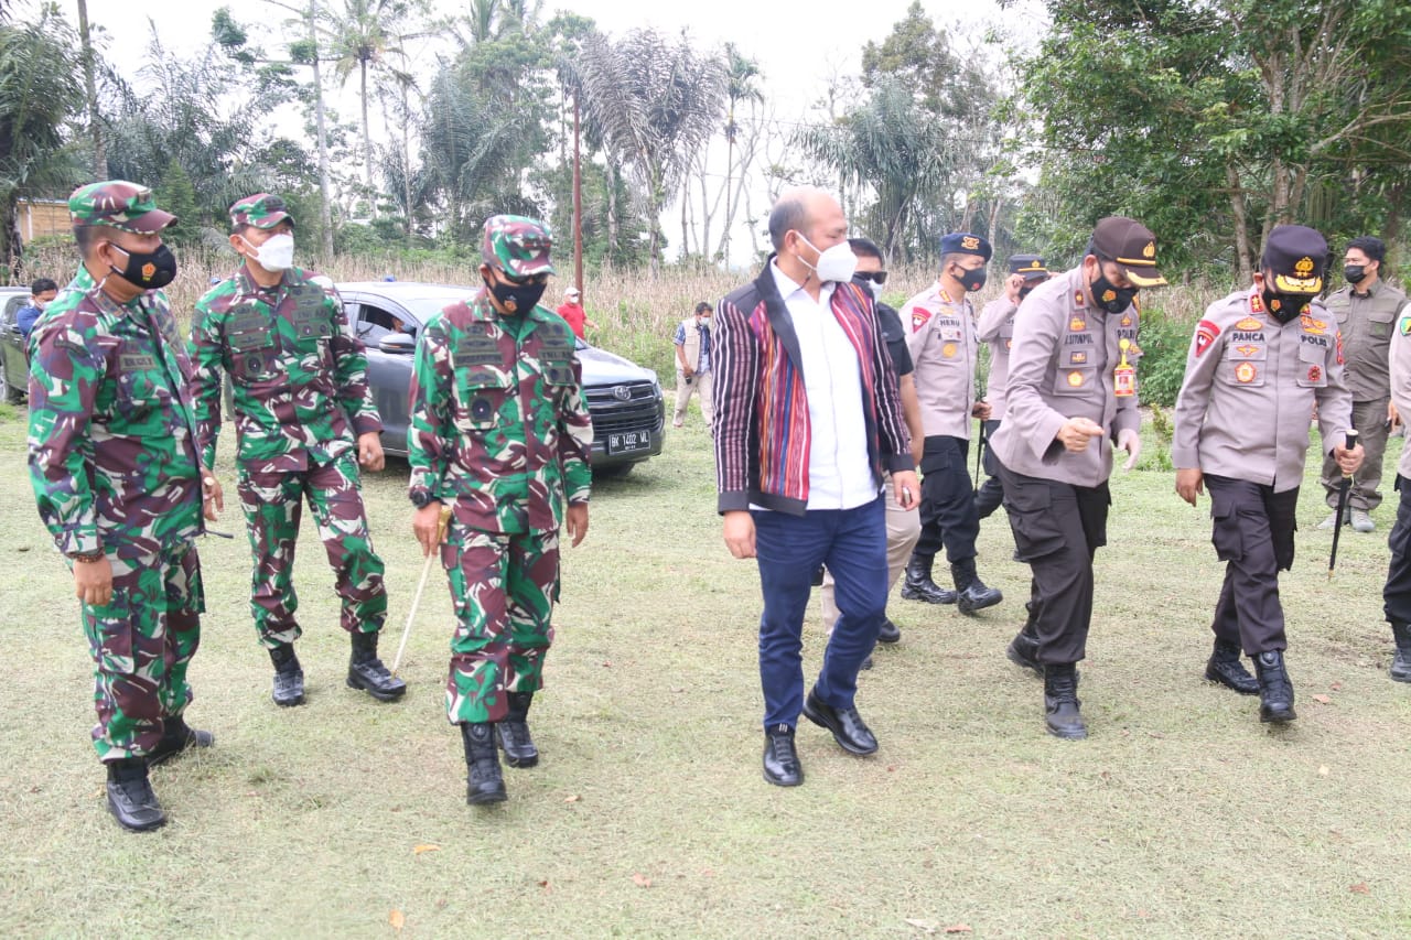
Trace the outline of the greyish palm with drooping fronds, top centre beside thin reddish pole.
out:
[[[570,78],[610,164],[625,164],[638,183],[650,220],[655,274],[662,209],[715,128],[725,97],[724,69],[684,37],[672,44],[652,30],[634,30],[617,42],[590,35]]]

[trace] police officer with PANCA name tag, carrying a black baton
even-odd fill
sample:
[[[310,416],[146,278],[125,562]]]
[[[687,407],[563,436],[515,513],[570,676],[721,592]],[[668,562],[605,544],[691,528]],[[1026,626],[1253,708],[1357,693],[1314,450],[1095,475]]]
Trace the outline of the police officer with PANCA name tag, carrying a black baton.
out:
[[[1270,231],[1254,287],[1216,301],[1197,323],[1175,399],[1175,491],[1191,505],[1202,484],[1211,491],[1211,541],[1226,562],[1205,677],[1257,692],[1260,721],[1297,717],[1278,572],[1294,562],[1314,405],[1324,450],[1339,470],[1355,473],[1362,463],[1360,446],[1343,446],[1352,395],[1338,325],[1316,301],[1326,257],[1328,243],[1312,229]],[[1242,646],[1257,682],[1240,662]]]

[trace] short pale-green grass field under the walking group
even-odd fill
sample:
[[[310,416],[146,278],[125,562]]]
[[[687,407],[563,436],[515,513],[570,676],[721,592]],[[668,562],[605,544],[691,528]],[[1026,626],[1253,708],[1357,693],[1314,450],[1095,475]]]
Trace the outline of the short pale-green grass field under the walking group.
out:
[[[543,761],[509,802],[464,803],[433,576],[411,686],[343,686],[347,641],[305,526],[296,583],[309,701],[277,709],[246,607],[238,512],[206,539],[205,639],[188,716],[216,748],[154,772],[171,816],[107,816],[87,740],[90,677],[71,579],[34,512],[23,409],[0,412],[0,910],[17,936],[1405,936],[1411,687],[1386,676],[1386,529],[1331,536],[1309,476],[1284,577],[1300,720],[1201,679],[1221,569],[1206,505],[1120,473],[1082,668],[1092,737],[1043,731],[1040,683],[1005,644],[1026,569],[999,518],[981,572],[1006,601],[964,618],[895,600],[903,628],[858,704],[882,742],[841,752],[804,723],[807,782],[759,771],[759,591],[720,541],[698,416],[601,483],[564,553],[557,644],[535,703]],[[233,487],[230,438],[220,471]],[[1149,433],[1144,464],[1157,442]],[[1395,453],[1388,454],[1393,467]],[[420,570],[405,464],[365,480],[395,641]],[[816,608],[806,669],[817,669]],[[433,848],[426,848],[433,847]]]

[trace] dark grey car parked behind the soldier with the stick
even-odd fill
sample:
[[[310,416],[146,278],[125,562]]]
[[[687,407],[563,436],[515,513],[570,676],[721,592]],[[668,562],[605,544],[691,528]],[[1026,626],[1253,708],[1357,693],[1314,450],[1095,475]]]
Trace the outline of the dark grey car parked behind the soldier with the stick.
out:
[[[360,281],[337,285],[349,329],[367,344],[368,382],[382,416],[382,449],[406,456],[406,397],[422,325],[468,298],[470,287]],[[577,342],[593,415],[593,470],[625,474],[662,453],[666,405],[656,373]]]

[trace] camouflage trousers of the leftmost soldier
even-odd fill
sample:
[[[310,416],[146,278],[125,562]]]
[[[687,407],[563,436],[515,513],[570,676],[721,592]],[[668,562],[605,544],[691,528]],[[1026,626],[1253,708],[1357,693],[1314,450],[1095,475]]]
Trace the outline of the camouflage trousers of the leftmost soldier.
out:
[[[107,560],[113,598],[83,604],[80,617],[93,655],[93,747],[100,761],[120,761],[155,748],[162,721],[190,704],[186,666],[206,604],[190,543],[130,559],[110,552]]]

